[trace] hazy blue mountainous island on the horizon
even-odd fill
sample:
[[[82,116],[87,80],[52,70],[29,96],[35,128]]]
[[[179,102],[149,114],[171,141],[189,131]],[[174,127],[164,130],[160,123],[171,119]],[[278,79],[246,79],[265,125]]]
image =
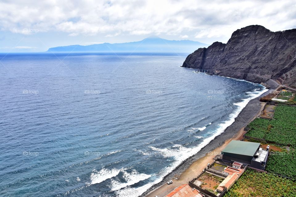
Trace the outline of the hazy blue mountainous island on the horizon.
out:
[[[191,52],[196,48],[206,46],[209,45],[191,40],[166,40],[159,37],[149,37],[137,42],[58,46],[48,49],[47,52]]]

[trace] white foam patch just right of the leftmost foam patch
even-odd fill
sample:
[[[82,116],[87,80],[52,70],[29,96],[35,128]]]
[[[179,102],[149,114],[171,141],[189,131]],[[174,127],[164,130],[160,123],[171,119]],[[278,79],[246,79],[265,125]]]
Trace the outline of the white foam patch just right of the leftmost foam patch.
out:
[[[123,178],[125,179],[126,183],[121,183],[117,180],[112,180],[111,183],[111,190],[112,191],[117,191],[120,190],[121,188],[125,188],[130,185],[134,185],[135,183],[138,183],[142,180],[148,179],[151,177],[151,175],[146,175],[144,173],[139,173],[136,170],[133,170],[132,172],[128,173],[127,171],[122,170],[123,173]]]

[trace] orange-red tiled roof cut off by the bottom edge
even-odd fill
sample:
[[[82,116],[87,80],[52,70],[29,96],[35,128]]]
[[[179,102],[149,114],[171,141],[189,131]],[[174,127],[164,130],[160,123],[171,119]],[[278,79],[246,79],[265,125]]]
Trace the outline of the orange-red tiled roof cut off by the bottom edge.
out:
[[[202,197],[198,190],[192,189],[188,184],[176,187],[165,197]]]

